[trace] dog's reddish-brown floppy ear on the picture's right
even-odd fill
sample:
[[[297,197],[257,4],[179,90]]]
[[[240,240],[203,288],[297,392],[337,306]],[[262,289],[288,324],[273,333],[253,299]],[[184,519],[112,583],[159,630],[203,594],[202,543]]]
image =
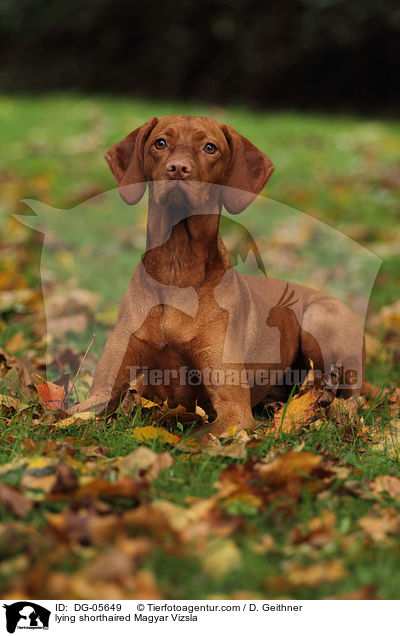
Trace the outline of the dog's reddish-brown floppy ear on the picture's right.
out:
[[[261,192],[274,166],[261,150],[232,126],[222,126],[231,151],[228,177],[222,192],[222,203],[231,214],[242,212]]]

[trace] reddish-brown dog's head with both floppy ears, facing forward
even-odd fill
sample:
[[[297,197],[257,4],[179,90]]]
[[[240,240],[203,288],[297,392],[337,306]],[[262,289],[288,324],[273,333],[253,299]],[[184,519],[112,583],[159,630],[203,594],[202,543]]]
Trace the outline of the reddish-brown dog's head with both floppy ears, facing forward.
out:
[[[219,197],[232,214],[253,201],[274,169],[232,126],[183,115],[150,119],[105,158],[130,205],[141,199],[149,182],[161,205],[195,210]]]

